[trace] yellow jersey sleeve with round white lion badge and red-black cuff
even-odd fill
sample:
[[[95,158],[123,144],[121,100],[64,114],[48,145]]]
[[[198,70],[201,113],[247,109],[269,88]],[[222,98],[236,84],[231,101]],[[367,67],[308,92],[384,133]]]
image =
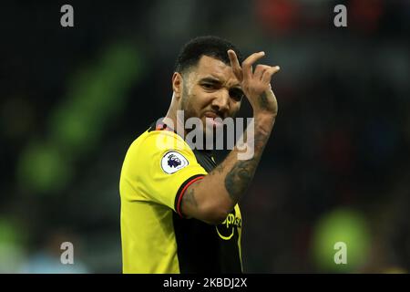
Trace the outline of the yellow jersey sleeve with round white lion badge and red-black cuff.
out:
[[[141,141],[135,156],[140,193],[182,216],[180,203],[185,191],[207,174],[190,146],[172,131],[153,130]]]

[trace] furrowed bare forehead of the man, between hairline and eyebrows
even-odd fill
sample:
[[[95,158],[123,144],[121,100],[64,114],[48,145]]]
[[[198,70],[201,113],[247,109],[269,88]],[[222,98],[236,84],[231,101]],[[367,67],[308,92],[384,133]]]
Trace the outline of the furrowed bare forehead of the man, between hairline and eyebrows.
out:
[[[196,68],[192,70],[193,78],[217,78],[223,83],[229,83],[230,86],[239,86],[239,80],[233,74],[231,66],[223,63],[219,59],[202,56]]]

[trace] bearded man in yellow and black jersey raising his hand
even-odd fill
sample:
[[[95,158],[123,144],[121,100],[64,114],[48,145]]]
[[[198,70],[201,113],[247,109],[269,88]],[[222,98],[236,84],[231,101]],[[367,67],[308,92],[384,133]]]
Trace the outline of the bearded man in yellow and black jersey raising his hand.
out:
[[[277,114],[271,78],[279,67],[252,68],[263,56],[241,62],[239,50],[216,36],[182,47],[167,115],[131,144],[121,170],[124,273],[242,272],[238,202]],[[198,118],[204,131],[220,127],[220,119],[238,112],[243,96],[253,109],[250,159],[239,159],[235,147],[217,165],[211,151],[184,141],[187,130],[176,130],[190,118]]]

